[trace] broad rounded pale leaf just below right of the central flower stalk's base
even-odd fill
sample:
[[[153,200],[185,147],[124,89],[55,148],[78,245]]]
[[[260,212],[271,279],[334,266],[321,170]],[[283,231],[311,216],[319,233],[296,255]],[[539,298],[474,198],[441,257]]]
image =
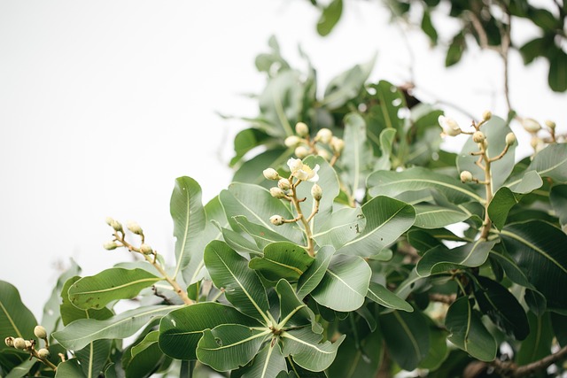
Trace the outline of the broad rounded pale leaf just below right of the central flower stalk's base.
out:
[[[354,311],[364,303],[371,274],[372,270],[362,258],[335,255],[311,296],[318,304],[335,311]]]

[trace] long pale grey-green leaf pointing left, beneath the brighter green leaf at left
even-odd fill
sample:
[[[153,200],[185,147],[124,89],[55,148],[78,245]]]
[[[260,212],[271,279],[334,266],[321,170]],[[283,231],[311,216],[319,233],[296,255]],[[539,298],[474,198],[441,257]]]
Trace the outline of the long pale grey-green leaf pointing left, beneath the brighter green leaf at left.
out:
[[[100,339],[119,339],[132,336],[145,323],[167,312],[175,310],[176,305],[151,305],[128,310],[106,320],[80,319],[52,334],[58,343],[74,351]]]

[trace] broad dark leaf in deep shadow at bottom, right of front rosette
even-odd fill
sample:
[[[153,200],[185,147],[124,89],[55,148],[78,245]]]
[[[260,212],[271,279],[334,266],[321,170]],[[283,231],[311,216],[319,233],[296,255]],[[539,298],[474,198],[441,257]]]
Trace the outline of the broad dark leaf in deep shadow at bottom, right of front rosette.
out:
[[[388,351],[404,370],[414,370],[429,351],[429,328],[422,312],[393,311],[378,318]]]

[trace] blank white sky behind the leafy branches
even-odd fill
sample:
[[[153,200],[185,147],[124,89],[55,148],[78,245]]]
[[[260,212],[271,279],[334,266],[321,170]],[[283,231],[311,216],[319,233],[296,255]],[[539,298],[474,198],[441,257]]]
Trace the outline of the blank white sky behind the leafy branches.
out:
[[[321,89],[377,52],[373,80],[413,80],[425,100],[506,115],[494,52],[473,48],[446,70],[443,54],[423,35],[389,25],[378,2],[346,5],[323,39],[307,0],[1,2],[0,280],[41,317],[69,258],[85,275],[130,258],[102,248],[111,237],[106,216],[137,220],[171,260],[175,178],[195,178],[206,201],[228,185],[232,138],[245,123],[216,112],[257,115],[242,95],[263,88],[253,61],[270,35],[294,66],[305,68],[298,45],[307,51]],[[442,35],[454,30],[434,22]],[[526,24],[514,31],[517,42],[533,32]],[[525,68],[513,53],[511,66],[518,111],[564,131],[567,97],[548,91],[546,63]]]

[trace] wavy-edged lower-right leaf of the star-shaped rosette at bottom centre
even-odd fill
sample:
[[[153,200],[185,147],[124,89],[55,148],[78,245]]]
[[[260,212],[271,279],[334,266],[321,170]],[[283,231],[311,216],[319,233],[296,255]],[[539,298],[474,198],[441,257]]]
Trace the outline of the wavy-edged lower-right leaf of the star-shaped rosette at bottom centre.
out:
[[[340,336],[335,343],[326,341],[319,343],[321,335],[311,332],[309,328],[283,331],[283,355],[291,354],[293,361],[304,369],[321,372],[335,359],[340,344],[345,335]]]

